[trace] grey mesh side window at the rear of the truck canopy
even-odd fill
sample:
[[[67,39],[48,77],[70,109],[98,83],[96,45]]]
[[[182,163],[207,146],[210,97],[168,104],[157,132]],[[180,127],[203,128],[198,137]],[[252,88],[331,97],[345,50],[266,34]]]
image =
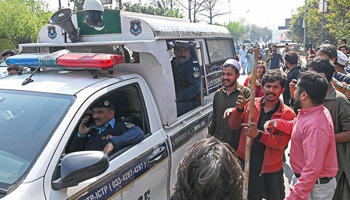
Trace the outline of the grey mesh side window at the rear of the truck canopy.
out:
[[[208,39],[206,42],[211,63],[234,57],[231,39]]]

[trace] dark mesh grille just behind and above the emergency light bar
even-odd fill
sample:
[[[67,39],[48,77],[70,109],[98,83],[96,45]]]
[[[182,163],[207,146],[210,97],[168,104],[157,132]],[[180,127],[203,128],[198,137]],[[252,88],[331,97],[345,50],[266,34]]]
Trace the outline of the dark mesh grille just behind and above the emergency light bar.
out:
[[[68,49],[72,52],[81,53],[113,53],[121,54],[125,63],[139,63],[139,53],[130,50],[126,45],[96,45],[96,46],[50,46],[50,53]]]

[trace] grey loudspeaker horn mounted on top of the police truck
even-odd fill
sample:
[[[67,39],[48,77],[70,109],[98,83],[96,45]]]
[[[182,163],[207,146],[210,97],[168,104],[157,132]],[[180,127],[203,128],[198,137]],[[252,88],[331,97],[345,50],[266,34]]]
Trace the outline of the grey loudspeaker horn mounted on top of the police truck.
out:
[[[50,23],[61,27],[66,33],[68,33],[68,37],[72,42],[77,42],[80,40],[80,33],[71,21],[72,13],[73,10],[70,8],[58,10],[51,16]]]

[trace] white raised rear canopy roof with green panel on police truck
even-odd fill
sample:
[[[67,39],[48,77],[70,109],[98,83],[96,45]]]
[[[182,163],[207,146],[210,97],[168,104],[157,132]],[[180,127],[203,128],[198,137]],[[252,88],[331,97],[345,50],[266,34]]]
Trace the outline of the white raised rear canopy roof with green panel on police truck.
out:
[[[188,20],[175,17],[155,16],[122,10],[105,9],[104,13],[103,21],[105,21],[105,25],[103,25],[102,30],[97,31],[92,27],[79,23],[79,17],[83,14],[82,11],[73,12],[71,16],[72,22],[75,27],[79,27],[81,34],[79,42],[156,40],[173,39],[174,37],[183,39],[193,37],[231,37],[228,29],[219,25],[191,23]],[[110,23],[110,21],[114,21],[114,23]],[[140,32],[136,35],[130,31],[130,24],[135,21],[141,27]],[[48,36],[48,27],[55,27],[55,37]],[[64,43],[62,32],[64,31],[57,24],[44,25],[39,31],[38,43]]]

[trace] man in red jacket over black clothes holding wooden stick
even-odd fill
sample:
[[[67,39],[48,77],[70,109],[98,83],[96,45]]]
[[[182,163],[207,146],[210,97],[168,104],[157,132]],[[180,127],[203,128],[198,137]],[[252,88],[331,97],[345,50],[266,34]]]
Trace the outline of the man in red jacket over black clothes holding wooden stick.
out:
[[[247,189],[249,200],[261,200],[263,197],[266,200],[279,200],[285,196],[282,154],[290,134],[275,128],[263,131],[263,124],[269,119],[292,120],[295,117],[294,111],[279,99],[286,81],[285,75],[279,69],[268,70],[262,76],[264,96],[255,98],[252,108],[249,108],[249,99],[245,99],[241,93],[236,101],[236,107],[228,108],[224,112],[224,118],[230,115],[228,119],[230,128],[243,127],[237,154],[242,163],[246,156],[250,156]],[[252,116],[250,123],[249,115]],[[252,143],[251,152],[245,155],[247,136],[251,138]]]

